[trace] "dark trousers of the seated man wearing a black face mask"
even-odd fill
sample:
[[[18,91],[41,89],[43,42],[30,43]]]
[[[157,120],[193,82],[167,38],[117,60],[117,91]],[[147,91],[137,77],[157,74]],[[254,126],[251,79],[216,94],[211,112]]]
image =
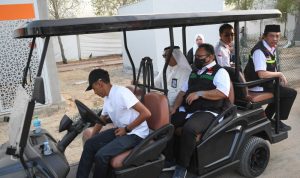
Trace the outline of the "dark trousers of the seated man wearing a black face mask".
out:
[[[197,112],[189,119],[185,119],[186,113],[176,112],[171,123],[175,129],[182,127],[181,136],[174,137],[167,145],[166,157],[167,160],[175,158],[176,163],[183,167],[188,167],[194,150],[196,148],[197,134],[203,133],[209,127],[215,116],[208,112]]]

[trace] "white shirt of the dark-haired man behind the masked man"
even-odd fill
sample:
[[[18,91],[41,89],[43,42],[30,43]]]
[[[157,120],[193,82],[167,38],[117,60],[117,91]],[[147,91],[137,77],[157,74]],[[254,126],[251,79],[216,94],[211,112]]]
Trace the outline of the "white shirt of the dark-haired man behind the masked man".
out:
[[[215,54],[217,57],[218,64],[222,67],[230,67],[230,47],[221,40],[215,47]]]

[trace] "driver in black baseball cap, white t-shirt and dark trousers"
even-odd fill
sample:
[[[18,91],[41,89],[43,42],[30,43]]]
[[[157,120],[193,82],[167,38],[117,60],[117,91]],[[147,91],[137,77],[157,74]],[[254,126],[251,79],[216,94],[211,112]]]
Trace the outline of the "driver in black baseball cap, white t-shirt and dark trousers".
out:
[[[127,88],[110,83],[109,74],[103,69],[95,69],[89,74],[89,86],[95,94],[104,98],[102,121],[111,119],[115,128],[99,131],[96,124],[92,135],[83,148],[77,178],[89,177],[95,162],[94,178],[107,177],[109,161],[112,157],[136,146],[149,134],[146,119],[150,111]],[[98,134],[96,134],[98,133]]]

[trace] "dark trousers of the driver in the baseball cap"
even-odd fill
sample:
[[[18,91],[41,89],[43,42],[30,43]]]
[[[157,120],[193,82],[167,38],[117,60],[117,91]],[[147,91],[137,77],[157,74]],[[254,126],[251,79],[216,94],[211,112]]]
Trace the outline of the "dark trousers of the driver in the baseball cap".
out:
[[[136,146],[142,138],[137,135],[115,136],[115,128],[88,139],[83,147],[77,178],[88,178],[95,162],[94,178],[106,178],[112,157]]]

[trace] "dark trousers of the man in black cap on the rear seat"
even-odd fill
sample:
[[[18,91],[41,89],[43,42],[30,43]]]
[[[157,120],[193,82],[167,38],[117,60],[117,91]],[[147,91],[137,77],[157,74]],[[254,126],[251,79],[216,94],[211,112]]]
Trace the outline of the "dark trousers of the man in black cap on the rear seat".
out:
[[[292,88],[280,86],[280,89],[279,89],[280,120],[288,119],[296,96],[297,96],[296,90],[294,90]],[[271,119],[273,117],[275,112],[276,112],[275,103],[269,104],[265,110],[266,116],[269,119]]]

